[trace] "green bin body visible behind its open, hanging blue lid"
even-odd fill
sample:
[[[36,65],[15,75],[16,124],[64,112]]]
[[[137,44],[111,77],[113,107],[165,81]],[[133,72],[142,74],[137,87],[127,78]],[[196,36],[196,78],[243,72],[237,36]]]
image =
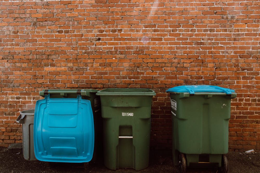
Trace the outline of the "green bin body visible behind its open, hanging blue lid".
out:
[[[92,161],[102,155],[102,118],[101,118],[101,105],[100,97],[96,95],[95,89],[48,89],[39,92],[40,96],[50,95],[50,98],[77,98],[81,95],[82,99],[89,100],[91,103],[93,118],[94,118],[94,153]]]

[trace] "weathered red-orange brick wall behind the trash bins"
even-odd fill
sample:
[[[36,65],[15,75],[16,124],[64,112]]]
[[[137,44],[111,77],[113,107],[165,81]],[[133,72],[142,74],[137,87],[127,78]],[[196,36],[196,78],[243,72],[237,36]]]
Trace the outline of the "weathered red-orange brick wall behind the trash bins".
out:
[[[260,2],[0,0],[0,146],[46,88],[151,88],[152,148],[171,148],[167,88],[235,89],[231,150],[259,149]]]

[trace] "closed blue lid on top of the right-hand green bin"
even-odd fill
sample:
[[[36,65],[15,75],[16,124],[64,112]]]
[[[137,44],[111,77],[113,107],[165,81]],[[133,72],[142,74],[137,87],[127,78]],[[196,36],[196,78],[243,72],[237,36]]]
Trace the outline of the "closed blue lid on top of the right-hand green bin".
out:
[[[231,94],[235,90],[222,88],[219,86],[212,85],[182,85],[176,86],[166,90],[166,92],[176,92],[176,93],[190,93],[195,94],[197,92],[212,92],[212,93],[226,93]]]

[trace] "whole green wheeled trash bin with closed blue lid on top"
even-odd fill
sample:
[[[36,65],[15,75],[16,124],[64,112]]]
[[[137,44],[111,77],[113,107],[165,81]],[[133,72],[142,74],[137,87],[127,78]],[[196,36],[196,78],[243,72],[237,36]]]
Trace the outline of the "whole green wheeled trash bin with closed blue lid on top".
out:
[[[211,163],[227,171],[230,102],[234,90],[211,85],[168,89],[172,113],[172,155],[181,172],[196,163]],[[197,165],[198,166],[198,165]]]

